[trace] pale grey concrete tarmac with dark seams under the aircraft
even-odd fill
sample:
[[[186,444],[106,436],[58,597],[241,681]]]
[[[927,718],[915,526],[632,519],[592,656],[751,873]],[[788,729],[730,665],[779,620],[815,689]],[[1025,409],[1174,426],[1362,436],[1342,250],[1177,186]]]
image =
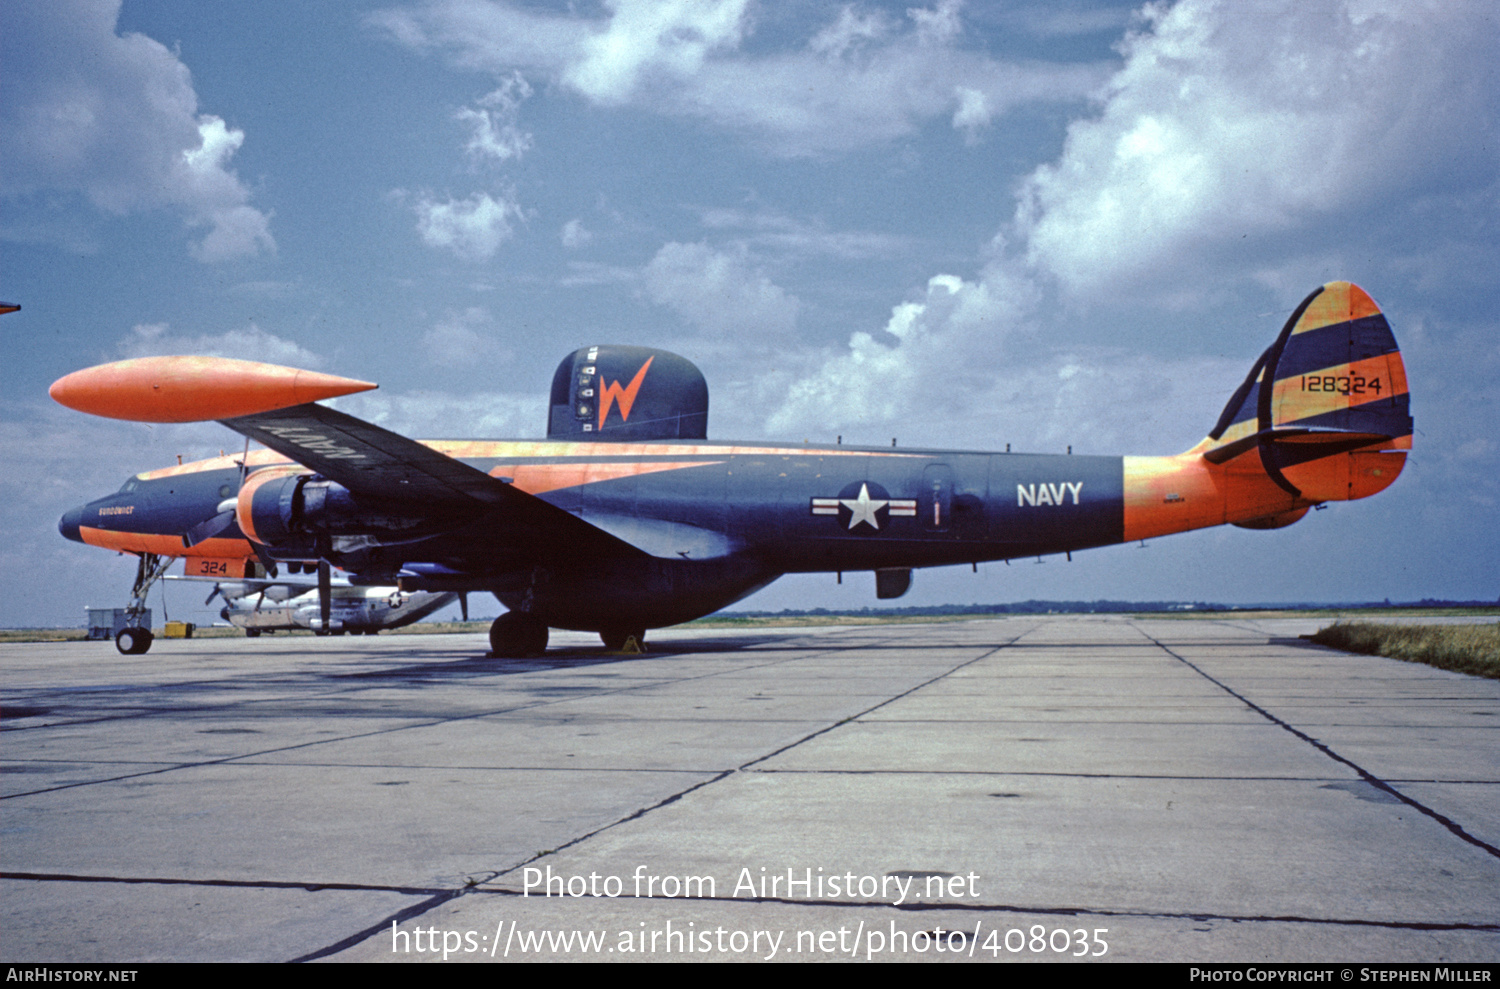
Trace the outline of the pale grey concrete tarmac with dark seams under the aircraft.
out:
[[[1500,683],[1320,623],[0,645],[0,957],[1500,960]]]

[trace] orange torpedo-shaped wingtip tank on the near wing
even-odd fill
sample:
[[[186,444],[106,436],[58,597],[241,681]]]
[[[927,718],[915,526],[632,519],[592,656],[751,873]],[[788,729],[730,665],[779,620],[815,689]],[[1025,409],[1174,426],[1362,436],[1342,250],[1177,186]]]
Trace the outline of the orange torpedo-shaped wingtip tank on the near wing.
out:
[[[68,408],[130,422],[202,422],[368,392],[375,384],[230,357],[138,357],[58,378]]]

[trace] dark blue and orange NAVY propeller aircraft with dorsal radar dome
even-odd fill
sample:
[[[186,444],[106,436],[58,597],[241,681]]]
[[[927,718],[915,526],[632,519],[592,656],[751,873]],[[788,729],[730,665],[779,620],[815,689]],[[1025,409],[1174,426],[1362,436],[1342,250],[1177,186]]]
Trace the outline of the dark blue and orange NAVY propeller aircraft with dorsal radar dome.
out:
[[[708,386],[640,347],[584,347],[552,378],[543,441],[408,440],[318,405],[375,387],[214,357],[88,368],[51,395],[135,422],[214,419],[242,459],[147,471],[68,512],[62,533],[141,557],[135,602],[177,557],[226,579],[278,563],[356,584],[489,591],[496,656],[548,627],[606,645],[717,611],[782,573],[1010,560],[1234,524],[1280,528],[1390,485],[1412,446],[1390,326],[1348,282],[1314,291],[1176,456],[1042,456],[706,440]],[[249,440],[262,450],[249,450]],[[126,629],[144,651],[147,629]]]

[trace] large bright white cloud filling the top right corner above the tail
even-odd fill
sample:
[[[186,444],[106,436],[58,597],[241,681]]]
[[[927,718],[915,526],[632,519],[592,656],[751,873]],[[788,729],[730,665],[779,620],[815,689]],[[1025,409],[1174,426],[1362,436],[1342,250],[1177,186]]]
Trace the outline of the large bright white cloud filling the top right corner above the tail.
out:
[[[1496,180],[1500,26],[1476,0],[1149,5],[1098,116],[1026,183],[1030,260],[1071,290],[1347,236],[1396,197]],[[1358,231],[1356,231],[1358,234]]]

